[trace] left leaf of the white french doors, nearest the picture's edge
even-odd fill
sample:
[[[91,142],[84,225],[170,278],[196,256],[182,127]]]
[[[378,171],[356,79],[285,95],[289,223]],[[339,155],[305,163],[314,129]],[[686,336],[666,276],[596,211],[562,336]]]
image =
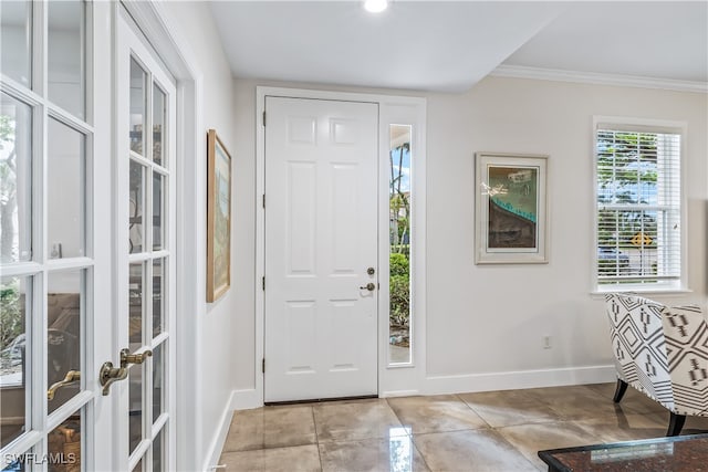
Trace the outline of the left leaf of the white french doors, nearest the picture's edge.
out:
[[[0,7],[2,470],[94,464],[96,280],[106,266],[96,263],[91,191],[101,160],[92,20],[83,1]]]

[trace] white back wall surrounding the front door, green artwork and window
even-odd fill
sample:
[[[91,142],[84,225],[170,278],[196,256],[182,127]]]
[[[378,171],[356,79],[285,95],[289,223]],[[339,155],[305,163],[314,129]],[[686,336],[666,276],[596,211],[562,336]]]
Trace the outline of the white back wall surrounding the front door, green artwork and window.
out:
[[[239,262],[235,277],[243,283],[235,294],[239,389],[256,386],[256,261],[251,251],[257,85],[305,87],[235,81],[238,221],[235,251]],[[610,371],[603,300],[591,295],[595,256],[593,115],[688,123],[685,188],[688,276],[693,293],[655,298],[705,306],[708,224],[708,97],[705,94],[501,77],[488,77],[462,94],[382,93],[423,95],[428,101],[428,380],[419,386],[420,391],[551,385],[573,378],[583,381],[593,375],[596,377],[597,373]],[[550,155],[548,265],[475,265],[472,176],[473,153],[479,150]],[[542,348],[545,335],[551,336],[551,349]],[[568,374],[595,366],[601,368],[590,377]],[[521,380],[511,374],[519,370],[544,374],[532,374]],[[450,381],[446,381],[448,379]]]

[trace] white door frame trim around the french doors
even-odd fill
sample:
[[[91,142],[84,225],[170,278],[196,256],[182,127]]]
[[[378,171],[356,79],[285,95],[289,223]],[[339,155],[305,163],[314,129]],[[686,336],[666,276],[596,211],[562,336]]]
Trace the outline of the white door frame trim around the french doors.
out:
[[[200,156],[206,148],[202,132],[202,76],[188,45],[187,35],[171,20],[160,2],[122,0],[135,23],[143,31],[159,57],[173,74],[177,85],[177,326],[176,345],[176,427],[177,470],[204,470],[210,455],[201,450],[201,381],[199,353],[201,324],[206,314],[206,228],[194,224],[206,208],[206,169]],[[113,9],[115,28],[118,9]],[[115,85],[114,85],[115,86]],[[114,156],[114,159],[117,156]],[[122,243],[123,241],[119,241]],[[181,270],[181,268],[190,268]],[[122,346],[114,346],[114,350]],[[115,350],[117,353],[117,350]],[[207,458],[205,463],[200,463]]]

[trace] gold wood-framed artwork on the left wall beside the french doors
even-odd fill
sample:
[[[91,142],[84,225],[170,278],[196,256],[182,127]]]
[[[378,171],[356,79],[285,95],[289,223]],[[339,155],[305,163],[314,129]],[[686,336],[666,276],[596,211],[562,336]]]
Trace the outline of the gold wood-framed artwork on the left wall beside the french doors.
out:
[[[207,302],[214,302],[231,285],[231,156],[214,129],[207,162]]]

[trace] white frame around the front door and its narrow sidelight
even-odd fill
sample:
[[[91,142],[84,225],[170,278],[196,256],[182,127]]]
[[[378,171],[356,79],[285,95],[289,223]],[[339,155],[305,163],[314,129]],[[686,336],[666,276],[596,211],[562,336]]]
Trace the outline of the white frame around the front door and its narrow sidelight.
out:
[[[253,396],[243,398],[238,408],[257,408],[263,405],[262,360],[264,354],[266,295],[261,280],[266,276],[266,211],[262,196],[266,192],[266,128],[263,112],[266,96],[294,98],[368,102],[378,104],[378,396],[415,395],[423,388],[426,371],[426,99],[412,96],[326,92],[313,90],[258,86],[256,90],[256,366]],[[389,125],[414,126],[414,181],[413,181],[413,238],[415,273],[412,274],[412,305],[414,306],[413,363],[389,366],[388,349],[388,151]]]

